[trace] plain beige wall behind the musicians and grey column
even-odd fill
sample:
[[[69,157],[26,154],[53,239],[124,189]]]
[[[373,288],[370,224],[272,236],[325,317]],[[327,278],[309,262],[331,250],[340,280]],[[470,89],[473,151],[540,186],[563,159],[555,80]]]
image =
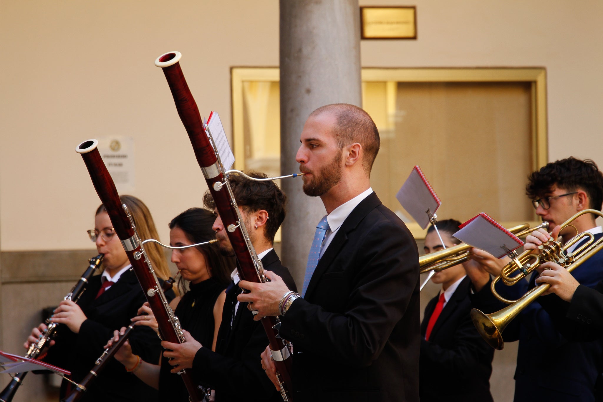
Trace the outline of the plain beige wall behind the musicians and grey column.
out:
[[[364,41],[363,66],[543,66],[549,159],[576,155],[603,164],[601,2],[413,4],[418,40]],[[230,68],[277,66],[278,17],[276,0],[1,2],[0,250],[90,248],[84,231],[92,227],[99,201],[74,148],[109,134],[134,137],[132,193],[148,204],[167,239],[166,223],[200,204],[205,186],[153,61],[163,52],[181,51],[201,113],[219,111],[230,133]],[[27,333],[39,307],[53,304],[37,300],[44,293],[36,286],[2,285],[1,330],[6,336],[11,328],[11,351],[18,344],[13,326]],[[52,283],[50,289],[57,296],[68,287]],[[8,313],[19,309],[25,291],[35,293],[35,306]],[[27,322],[16,322],[18,317]],[[507,391],[512,366],[498,366],[506,373],[500,387]]]

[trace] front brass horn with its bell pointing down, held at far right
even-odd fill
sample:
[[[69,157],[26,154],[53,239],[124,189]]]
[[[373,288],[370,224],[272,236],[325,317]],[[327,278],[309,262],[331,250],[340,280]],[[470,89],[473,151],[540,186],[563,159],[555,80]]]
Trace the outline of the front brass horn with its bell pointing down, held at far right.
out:
[[[592,213],[596,216],[603,217],[601,211],[594,209],[586,209],[576,213],[572,218],[568,219],[561,225],[561,230],[566,227],[572,226],[572,222],[579,216]],[[575,227],[574,227],[575,228]],[[586,241],[584,241],[586,239]],[[567,251],[568,248],[572,247],[576,243],[584,241],[580,247],[573,252]],[[527,250],[521,254],[521,256],[513,259],[508,263],[499,277],[494,278],[491,284],[493,295],[500,301],[509,303],[510,305],[502,310],[491,314],[482,313],[478,309],[471,310],[471,318],[473,325],[478,329],[484,341],[486,341],[491,347],[502,350],[504,347],[504,341],[502,339],[502,331],[505,330],[509,322],[511,322],[520,312],[522,312],[528,304],[536,300],[540,295],[546,292],[549,287],[548,283],[542,283],[536,287],[530,289],[525,295],[517,300],[507,300],[500,297],[494,291],[494,284],[496,281],[502,279],[505,284],[514,284],[517,280],[528,275],[530,272],[537,269],[543,262],[555,262],[567,269],[568,272],[578,268],[582,263],[594,256],[601,249],[603,249],[603,237],[595,241],[595,237],[589,233],[579,233],[572,240],[567,242],[565,245],[561,245],[560,242],[554,241],[549,238],[549,241],[538,247],[538,254],[531,254],[531,250]],[[511,275],[513,272],[519,273],[517,275]],[[504,275],[503,275],[504,273]]]

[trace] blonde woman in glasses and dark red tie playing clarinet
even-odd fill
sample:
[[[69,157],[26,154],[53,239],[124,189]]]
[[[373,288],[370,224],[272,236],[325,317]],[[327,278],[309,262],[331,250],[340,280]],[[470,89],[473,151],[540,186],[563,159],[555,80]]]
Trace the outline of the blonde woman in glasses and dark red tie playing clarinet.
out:
[[[131,195],[122,195],[120,199],[130,210],[140,238],[159,239],[147,206]],[[138,315],[137,311],[146,301],[134,272],[130,271],[127,254],[102,205],[96,210],[94,223],[94,229],[89,230],[88,234],[95,242],[98,253],[104,254],[103,273],[89,280],[86,291],[77,303],[62,301],[54,310],[51,321],[65,325],[60,325],[56,341],[51,341],[48,354],[43,357],[45,362],[71,371],[71,380],[74,382],[80,382],[95,365],[113,331],[130,325],[131,318]],[[157,277],[160,280],[167,279],[168,263],[160,246],[150,243],[145,245],[145,250]],[[166,293],[168,300],[172,300],[174,296],[173,291]],[[36,342],[45,328],[44,324],[34,328],[25,342],[25,348]],[[148,362],[159,361],[160,339],[151,328],[136,327],[130,335],[130,344],[141,359]],[[71,383],[63,380],[60,397],[65,397],[72,388]],[[81,400],[156,401],[157,391],[113,361]]]

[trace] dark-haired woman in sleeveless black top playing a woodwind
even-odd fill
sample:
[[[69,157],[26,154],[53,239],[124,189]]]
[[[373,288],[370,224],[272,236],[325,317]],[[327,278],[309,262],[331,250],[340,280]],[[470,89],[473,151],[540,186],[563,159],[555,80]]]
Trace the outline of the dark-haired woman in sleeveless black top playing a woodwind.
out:
[[[201,208],[191,208],[176,216],[169,222],[169,243],[172,247],[182,247],[215,239],[212,230],[215,216],[212,212]],[[232,259],[220,254],[216,243],[182,250],[172,251],[172,262],[180,271],[181,280],[178,282],[182,298],[172,301],[172,309],[186,331],[188,339],[197,339],[204,345],[212,345],[215,350],[218,329],[222,320],[222,309],[230,272],[234,269]],[[186,291],[188,283],[188,291]],[[157,328],[151,309],[147,306],[140,308],[140,315],[133,319],[136,325],[147,325]],[[122,328],[123,332],[125,328]],[[115,337],[109,341],[117,341]],[[192,336],[192,338],[190,338]],[[131,350],[128,342],[115,355],[128,371],[142,381],[159,389],[159,400],[188,401],[189,395],[180,377],[175,374],[178,368],[173,368],[168,359],[162,356],[159,365],[140,360]],[[194,372],[193,372],[194,374]]]

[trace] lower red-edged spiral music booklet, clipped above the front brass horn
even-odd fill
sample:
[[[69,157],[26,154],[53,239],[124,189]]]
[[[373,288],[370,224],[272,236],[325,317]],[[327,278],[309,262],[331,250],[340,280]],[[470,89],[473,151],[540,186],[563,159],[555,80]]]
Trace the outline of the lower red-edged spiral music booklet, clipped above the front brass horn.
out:
[[[459,227],[461,229],[454,234],[454,237],[497,258],[502,258],[510,251],[523,246],[519,237],[483,212]]]

